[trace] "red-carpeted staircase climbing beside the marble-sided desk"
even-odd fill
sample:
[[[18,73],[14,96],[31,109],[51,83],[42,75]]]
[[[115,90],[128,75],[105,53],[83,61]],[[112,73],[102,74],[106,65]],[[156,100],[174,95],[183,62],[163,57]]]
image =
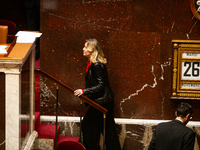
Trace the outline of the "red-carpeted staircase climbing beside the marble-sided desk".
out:
[[[40,68],[40,60],[37,60],[35,62],[35,67]],[[39,74],[35,74],[35,82],[40,82],[40,76]],[[37,87],[36,87],[37,88]],[[37,90],[37,89],[36,89]],[[38,139],[49,139],[53,141],[53,147],[52,149],[55,149],[55,144],[56,144],[56,125],[49,125],[49,124],[40,124],[40,110],[39,110],[39,101],[40,101],[40,96],[38,92],[35,92],[35,101],[36,101],[36,109],[35,109],[35,130],[38,132]],[[71,147],[71,149],[74,150],[84,150],[84,146],[82,146],[79,143],[80,138],[79,137],[70,137],[70,136],[60,136],[60,126],[57,125],[57,147],[59,145],[62,145],[62,147]],[[33,147],[34,150],[41,150],[40,148],[35,148],[38,147],[37,142],[35,142],[35,145]],[[72,146],[73,143],[73,146]],[[78,148],[78,147],[82,148]],[[61,146],[60,146],[61,147]],[[76,148],[77,147],[77,148]],[[47,148],[46,148],[47,149]],[[43,150],[43,149],[42,149]],[[59,150],[59,149],[58,149]],[[62,148],[62,150],[64,150]]]

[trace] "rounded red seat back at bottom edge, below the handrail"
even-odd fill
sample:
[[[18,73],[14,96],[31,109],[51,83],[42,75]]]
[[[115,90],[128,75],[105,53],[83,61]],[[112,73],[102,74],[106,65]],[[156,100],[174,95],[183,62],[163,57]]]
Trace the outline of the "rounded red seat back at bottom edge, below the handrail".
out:
[[[85,150],[85,147],[75,141],[64,141],[58,145],[57,150]]]

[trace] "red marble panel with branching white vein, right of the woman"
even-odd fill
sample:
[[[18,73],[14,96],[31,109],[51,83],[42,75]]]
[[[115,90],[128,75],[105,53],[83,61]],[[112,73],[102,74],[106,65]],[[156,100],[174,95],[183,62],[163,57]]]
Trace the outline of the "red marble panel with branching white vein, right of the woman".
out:
[[[110,79],[119,113],[123,118],[145,118],[156,110],[156,102],[149,107],[152,98],[160,98],[160,34],[110,32],[110,37]]]

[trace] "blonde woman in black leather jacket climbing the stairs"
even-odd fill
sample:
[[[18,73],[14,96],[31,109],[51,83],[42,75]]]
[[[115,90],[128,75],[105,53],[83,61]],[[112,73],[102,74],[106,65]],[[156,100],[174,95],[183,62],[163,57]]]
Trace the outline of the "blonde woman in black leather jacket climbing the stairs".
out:
[[[89,59],[85,82],[85,89],[74,91],[75,96],[86,95],[91,100],[106,108],[106,150],[121,150],[114,121],[114,94],[110,88],[106,59],[100,44],[96,39],[89,39],[83,48],[83,55]],[[100,150],[100,134],[103,131],[103,114],[90,106],[83,118],[83,145],[86,150]]]

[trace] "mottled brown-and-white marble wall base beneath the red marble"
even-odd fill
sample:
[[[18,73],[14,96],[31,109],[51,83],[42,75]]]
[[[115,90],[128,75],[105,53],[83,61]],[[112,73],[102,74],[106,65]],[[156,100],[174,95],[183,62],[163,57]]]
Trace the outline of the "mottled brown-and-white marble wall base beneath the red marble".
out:
[[[53,117],[51,117],[53,118]],[[50,119],[51,120],[51,119]],[[71,120],[71,121],[70,121]],[[59,118],[58,125],[60,125],[60,136],[73,136],[80,137],[80,123],[78,122],[78,117],[64,119]],[[73,121],[72,121],[73,120]],[[51,120],[52,121],[52,120]],[[120,122],[120,119],[116,119],[117,131],[119,135],[120,145],[122,150],[147,150],[149,143],[152,138],[153,131],[156,128],[156,122],[150,123],[150,121],[144,120],[144,123],[134,121],[133,124],[124,124]],[[137,122],[137,123],[136,123]],[[55,124],[55,121],[47,121],[45,116],[41,116],[41,123],[43,124]],[[194,127],[194,122],[190,122],[188,127],[193,128],[197,134],[195,138],[194,150],[199,150],[200,148],[200,128],[199,125]],[[33,149],[52,149],[53,144],[51,139],[37,139],[34,144]],[[103,137],[100,138],[100,146],[103,147]],[[103,149],[103,148],[102,148]]]

